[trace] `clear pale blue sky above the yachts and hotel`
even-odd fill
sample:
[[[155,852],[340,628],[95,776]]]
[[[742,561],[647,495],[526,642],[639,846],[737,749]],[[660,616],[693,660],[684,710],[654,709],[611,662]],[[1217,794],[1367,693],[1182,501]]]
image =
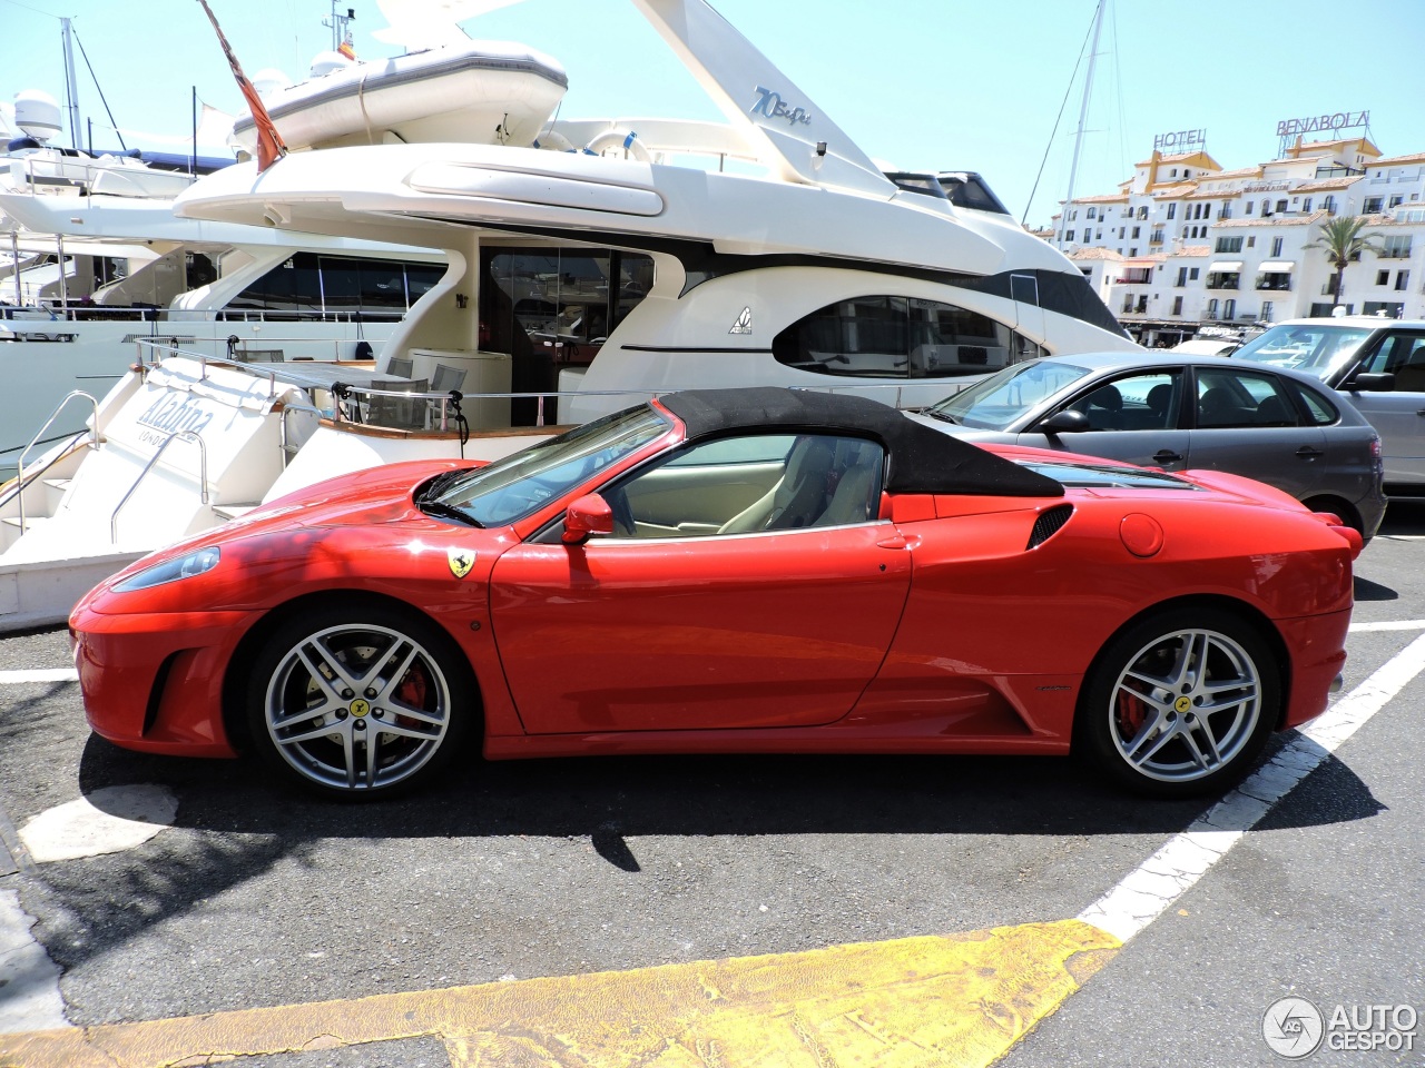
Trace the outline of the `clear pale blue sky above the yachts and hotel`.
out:
[[[331,44],[322,0],[209,1],[248,74],[296,78]],[[1063,198],[1082,93],[1070,77],[1096,0],[712,3],[869,155],[901,169],[978,169],[1019,218],[1047,150],[1027,221],[1047,222]],[[370,37],[383,24],[373,0],[346,6],[358,56],[392,54]],[[184,135],[191,87],[239,110],[195,0],[0,0],[0,100],[40,88],[63,103],[58,16],[74,19],[121,128]],[[627,0],[526,0],[465,27],[559,58],[566,118],[720,118]],[[1422,48],[1422,0],[1113,0],[1076,191],[1112,189],[1154,134],[1206,130],[1208,152],[1235,168],[1277,154],[1280,120],[1321,112],[1367,110],[1387,155],[1425,151]],[[107,122],[77,63],[81,111]]]

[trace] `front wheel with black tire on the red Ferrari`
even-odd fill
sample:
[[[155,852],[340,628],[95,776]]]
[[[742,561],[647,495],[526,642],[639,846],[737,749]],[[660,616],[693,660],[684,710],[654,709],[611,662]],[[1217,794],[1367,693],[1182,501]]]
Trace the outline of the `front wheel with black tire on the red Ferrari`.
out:
[[[375,799],[439,776],[477,722],[479,698],[465,654],[430,619],[333,601],[274,631],[247,718],[254,748],[289,782]]]

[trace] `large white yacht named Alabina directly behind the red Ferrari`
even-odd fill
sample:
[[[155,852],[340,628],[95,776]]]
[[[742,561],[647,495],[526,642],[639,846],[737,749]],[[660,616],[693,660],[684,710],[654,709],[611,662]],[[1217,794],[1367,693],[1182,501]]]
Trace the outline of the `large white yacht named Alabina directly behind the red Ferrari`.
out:
[[[200,179],[178,216],[422,246],[449,268],[375,367],[158,352],[128,375],[88,434],[0,496],[0,628],[63,618],[95,571],[319,478],[494,459],[661,392],[913,406],[1039,353],[1134,347],[976,174],[885,174],[704,0],[633,3],[725,122],[551,121],[563,70],[489,43],[269,95],[301,150]],[[440,112],[443,80],[482,63],[517,75],[509,107]],[[370,107],[353,111],[352,85]]]

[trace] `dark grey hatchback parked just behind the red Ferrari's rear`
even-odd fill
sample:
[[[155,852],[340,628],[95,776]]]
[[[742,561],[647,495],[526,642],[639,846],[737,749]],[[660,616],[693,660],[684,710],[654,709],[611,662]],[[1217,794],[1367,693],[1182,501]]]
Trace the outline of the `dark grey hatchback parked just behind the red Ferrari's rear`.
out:
[[[1235,356],[1050,356],[1005,367],[916,419],[972,441],[1243,474],[1367,538],[1385,514],[1381,441],[1361,413],[1310,375]]]

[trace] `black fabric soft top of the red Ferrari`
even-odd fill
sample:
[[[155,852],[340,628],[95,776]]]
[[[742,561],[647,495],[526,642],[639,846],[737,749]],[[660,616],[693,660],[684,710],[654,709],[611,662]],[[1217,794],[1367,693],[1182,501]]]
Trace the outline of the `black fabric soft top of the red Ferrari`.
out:
[[[891,493],[1062,497],[1063,486],[969,441],[906,419],[893,407],[846,393],[777,389],[695,389],[658,403],[683,420],[688,440],[732,431],[844,431],[881,443]]]

